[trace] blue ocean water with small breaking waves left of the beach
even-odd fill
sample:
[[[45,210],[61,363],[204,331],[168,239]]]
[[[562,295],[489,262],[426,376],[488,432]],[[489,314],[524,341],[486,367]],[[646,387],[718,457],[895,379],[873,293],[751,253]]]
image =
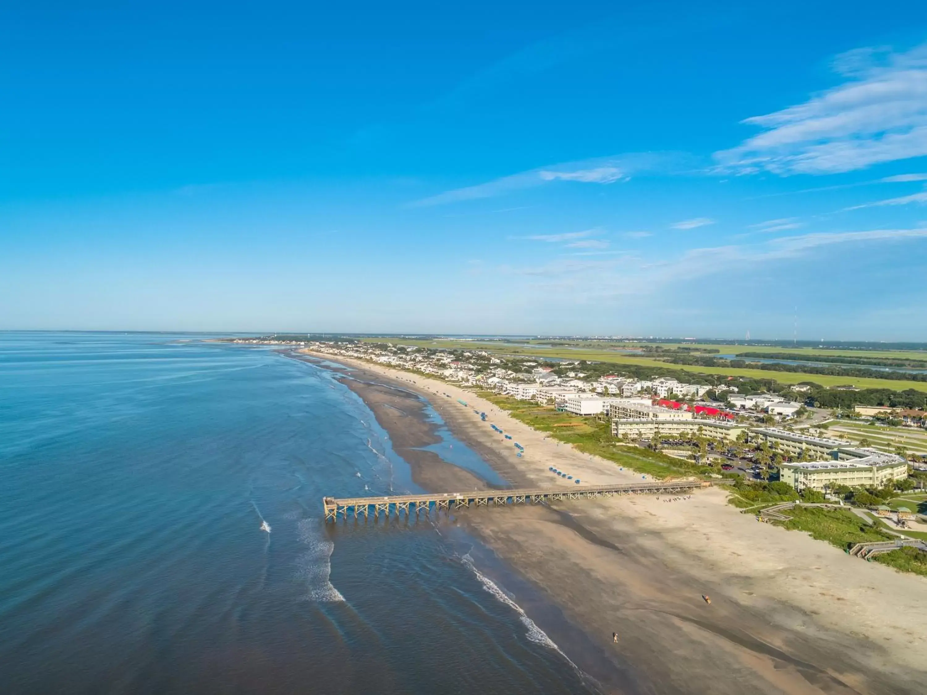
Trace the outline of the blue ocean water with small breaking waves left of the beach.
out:
[[[0,333],[0,692],[584,689],[459,533],[323,523],[413,487],[333,373],[203,337]]]

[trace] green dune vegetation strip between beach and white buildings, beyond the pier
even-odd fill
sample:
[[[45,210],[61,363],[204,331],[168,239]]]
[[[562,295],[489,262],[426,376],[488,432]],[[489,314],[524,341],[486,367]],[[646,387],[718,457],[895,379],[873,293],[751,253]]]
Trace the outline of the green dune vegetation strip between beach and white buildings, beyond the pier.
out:
[[[666,478],[712,472],[710,467],[693,461],[683,461],[659,451],[623,444],[612,436],[609,423],[578,417],[528,400],[499,396],[491,391],[480,391],[477,395],[509,411],[516,420],[546,432],[558,441],[572,444],[583,453],[601,456],[642,474]]]

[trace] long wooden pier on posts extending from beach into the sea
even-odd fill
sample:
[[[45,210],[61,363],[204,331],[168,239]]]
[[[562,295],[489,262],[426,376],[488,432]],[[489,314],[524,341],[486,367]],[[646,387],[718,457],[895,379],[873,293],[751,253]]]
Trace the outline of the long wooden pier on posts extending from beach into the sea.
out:
[[[674,494],[710,486],[702,480],[665,480],[653,483],[622,483],[619,485],[586,485],[564,488],[532,487],[525,489],[474,490],[473,492],[444,492],[432,495],[390,495],[388,497],[353,497],[336,499],[325,497],[325,521],[335,522],[338,516],[374,518],[380,512],[388,518],[392,512],[399,516],[420,512],[450,512],[470,506],[490,507],[506,504],[541,504],[568,499],[614,497],[615,495]]]

